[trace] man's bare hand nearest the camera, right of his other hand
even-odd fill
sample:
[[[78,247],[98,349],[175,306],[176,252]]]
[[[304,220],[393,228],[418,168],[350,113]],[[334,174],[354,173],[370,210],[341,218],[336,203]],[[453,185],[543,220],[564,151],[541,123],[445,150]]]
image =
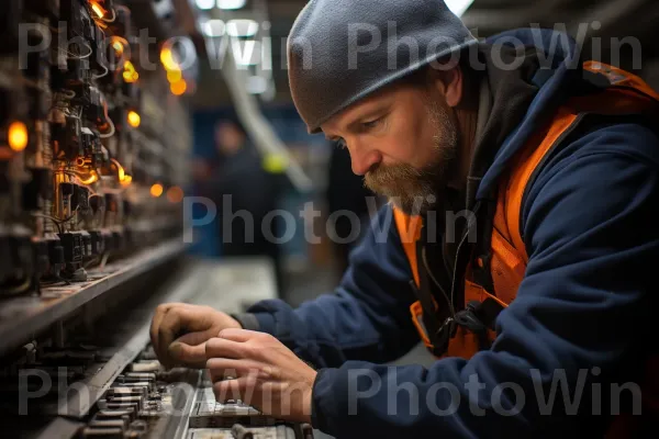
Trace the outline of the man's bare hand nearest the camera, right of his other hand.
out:
[[[311,423],[316,371],[275,337],[224,329],[205,344],[205,352],[219,402],[241,399],[266,415]]]

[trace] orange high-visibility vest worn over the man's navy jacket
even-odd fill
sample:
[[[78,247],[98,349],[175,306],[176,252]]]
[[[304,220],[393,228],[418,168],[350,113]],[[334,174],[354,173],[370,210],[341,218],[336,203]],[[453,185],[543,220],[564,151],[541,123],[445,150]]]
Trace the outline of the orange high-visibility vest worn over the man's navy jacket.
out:
[[[522,199],[525,188],[543,161],[543,157],[551,150],[557,142],[560,142],[563,133],[579,123],[579,114],[657,114],[659,94],[639,77],[594,61],[584,63],[583,69],[604,75],[608,79],[610,86],[594,94],[569,99],[558,109],[547,126],[532,136],[514,157],[511,170],[500,179],[498,187],[489,261],[493,291],[488,291],[485,285],[479,284],[472,277],[474,269],[472,264],[483,267],[483,261],[477,259],[469,262],[463,274],[465,301],[460,304],[463,308],[470,303],[483,303],[489,300],[488,302],[495,303],[502,309],[515,300],[528,262],[526,246],[521,235]],[[420,271],[416,246],[421,237],[422,219],[420,216],[409,216],[394,209],[394,221],[412,268],[414,282],[418,288]],[[434,299],[433,302],[436,308],[438,305]],[[448,345],[438,352],[423,324],[422,303],[415,302],[410,311],[422,340],[435,356],[469,359],[482,348],[480,342],[482,338],[457,325]],[[488,328],[490,341],[493,341],[495,337],[494,331]],[[655,364],[659,364],[659,362],[655,361]],[[619,427],[619,424],[616,419],[612,427],[615,429],[615,427]]]

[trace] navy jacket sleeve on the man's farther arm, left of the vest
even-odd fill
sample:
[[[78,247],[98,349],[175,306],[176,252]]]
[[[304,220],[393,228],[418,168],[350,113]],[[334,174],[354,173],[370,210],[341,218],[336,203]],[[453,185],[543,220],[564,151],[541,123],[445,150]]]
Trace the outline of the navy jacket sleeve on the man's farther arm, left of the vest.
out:
[[[275,335],[315,367],[336,367],[346,360],[394,360],[418,342],[410,317],[412,279],[390,206],[382,207],[333,294],[298,308],[280,300],[259,302],[244,327]],[[252,324],[250,324],[252,323]]]

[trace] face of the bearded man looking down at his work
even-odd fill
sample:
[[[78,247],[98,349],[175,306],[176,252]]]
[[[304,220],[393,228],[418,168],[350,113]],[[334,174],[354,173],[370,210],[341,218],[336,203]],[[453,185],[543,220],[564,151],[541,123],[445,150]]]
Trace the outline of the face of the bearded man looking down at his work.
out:
[[[353,171],[407,214],[443,199],[458,161],[454,110],[427,89],[398,85],[358,102],[322,126],[348,148]]]

